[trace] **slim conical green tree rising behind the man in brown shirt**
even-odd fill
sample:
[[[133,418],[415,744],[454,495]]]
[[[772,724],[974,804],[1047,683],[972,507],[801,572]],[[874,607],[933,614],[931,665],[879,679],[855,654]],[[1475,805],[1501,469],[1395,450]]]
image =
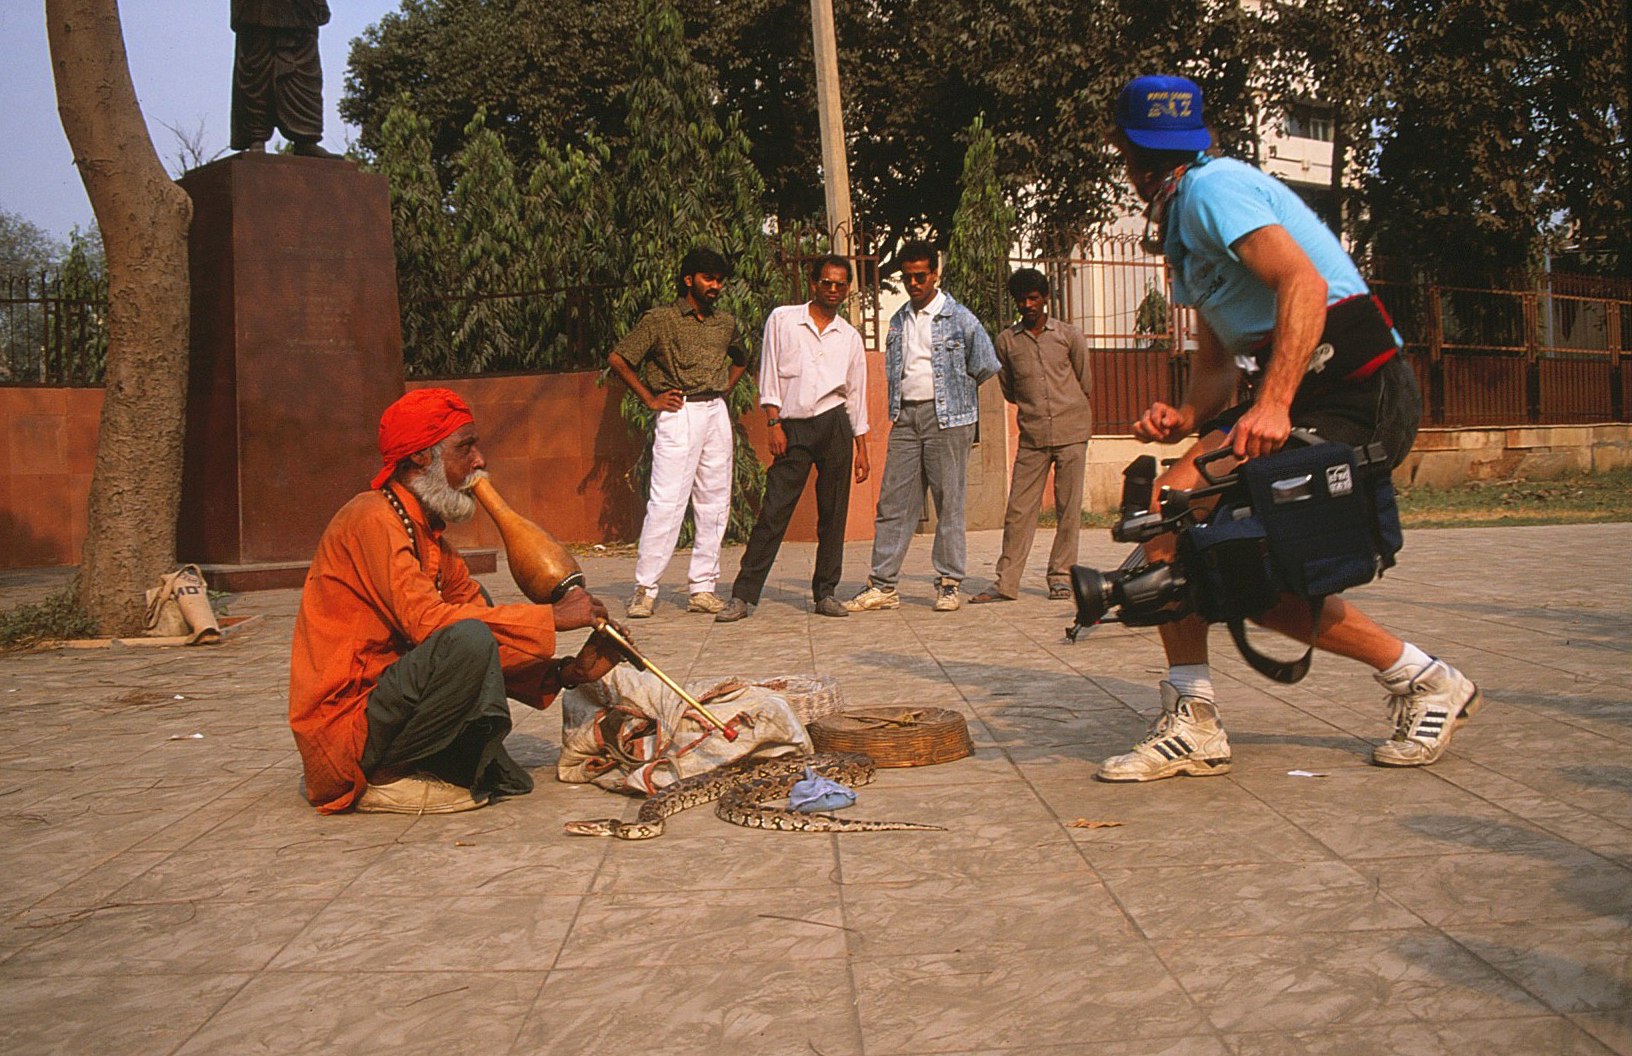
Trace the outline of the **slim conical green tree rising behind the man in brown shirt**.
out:
[[[987,333],[997,333],[1013,318],[1005,282],[1015,211],[1004,201],[997,181],[997,144],[984,118],[976,116],[965,137],[969,149],[963,155],[963,194],[951,217],[942,282],[974,312]]]

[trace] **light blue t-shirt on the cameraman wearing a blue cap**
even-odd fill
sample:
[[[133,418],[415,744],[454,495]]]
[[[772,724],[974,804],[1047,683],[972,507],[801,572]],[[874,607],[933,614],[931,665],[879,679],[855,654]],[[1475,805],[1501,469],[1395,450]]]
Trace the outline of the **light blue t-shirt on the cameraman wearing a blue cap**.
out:
[[[1245,353],[1275,330],[1275,291],[1232,248],[1271,224],[1293,237],[1327,281],[1327,304],[1366,294],[1337,235],[1275,176],[1234,158],[1191,165],[1169,206],[1167,260],[1173,299],[1195,305],[1229,353]]]

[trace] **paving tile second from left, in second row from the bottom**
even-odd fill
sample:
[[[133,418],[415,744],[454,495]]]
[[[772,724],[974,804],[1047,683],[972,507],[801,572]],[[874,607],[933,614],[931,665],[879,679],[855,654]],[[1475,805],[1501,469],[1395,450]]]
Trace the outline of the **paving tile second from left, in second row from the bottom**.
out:
[[[578,912],[576,894],[338,898],[310,917],[273,971],[547,971]]]

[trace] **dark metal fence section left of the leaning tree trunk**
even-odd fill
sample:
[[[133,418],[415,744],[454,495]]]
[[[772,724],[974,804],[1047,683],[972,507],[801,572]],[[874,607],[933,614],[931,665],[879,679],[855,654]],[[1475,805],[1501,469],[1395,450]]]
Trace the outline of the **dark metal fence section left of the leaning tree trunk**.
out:
[[[106,281],[0,279],[0,385],[100,385],[106,356]]]

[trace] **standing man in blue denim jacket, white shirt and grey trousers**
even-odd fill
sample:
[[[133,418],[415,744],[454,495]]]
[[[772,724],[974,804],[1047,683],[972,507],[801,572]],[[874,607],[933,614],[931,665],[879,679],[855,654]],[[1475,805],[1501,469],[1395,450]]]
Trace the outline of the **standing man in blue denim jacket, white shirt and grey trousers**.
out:
[[[966,550],[963,499],[979,416],[981,382],[997,374],[997,354],[974,313],[937,289],[940,256],[927,242],[901,246],[907,304],[889,320],[885,377],[889,382],[889,447],[873,522],[873,570],[850,612],[899,609],[896,579],[924,512],[935,499],[935,612],[958,607]]]

